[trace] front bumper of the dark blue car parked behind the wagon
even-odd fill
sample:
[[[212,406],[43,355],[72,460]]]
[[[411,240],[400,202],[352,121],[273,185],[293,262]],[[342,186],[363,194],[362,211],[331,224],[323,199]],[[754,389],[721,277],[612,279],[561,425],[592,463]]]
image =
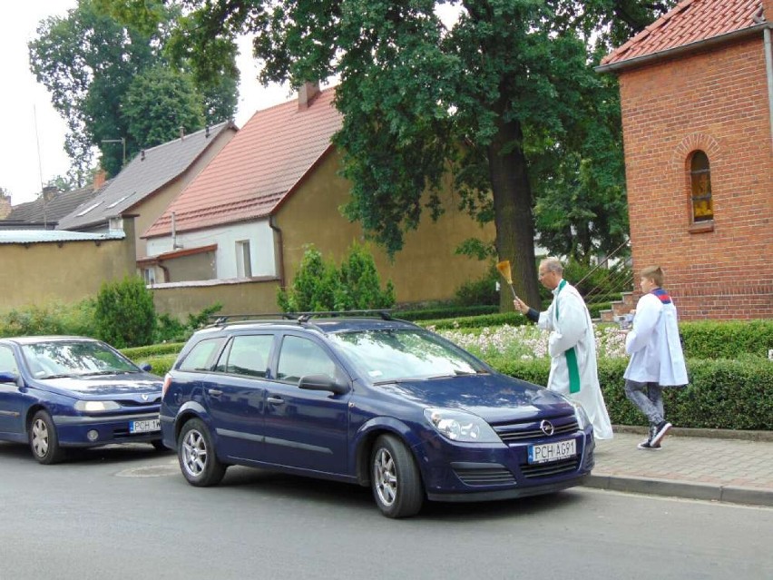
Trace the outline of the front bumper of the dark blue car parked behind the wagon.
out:
[[[112,417],[54,416],[62,447],[99,447],[110,443],[142,443],[161,439],[161,430],[132,433],[134,421],[158,421],[159,414],[142,413]],[[97,437],[89,437],[95,432]]]

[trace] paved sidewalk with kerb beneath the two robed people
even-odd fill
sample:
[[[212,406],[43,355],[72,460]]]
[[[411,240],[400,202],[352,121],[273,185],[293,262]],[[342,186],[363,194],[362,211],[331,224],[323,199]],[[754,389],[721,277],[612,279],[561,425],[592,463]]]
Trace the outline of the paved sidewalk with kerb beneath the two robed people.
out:
[[[614,434],[596,442],[588,487],[773,506],[773,432],[674,428],[658,451],[636,448],[643,428]]]

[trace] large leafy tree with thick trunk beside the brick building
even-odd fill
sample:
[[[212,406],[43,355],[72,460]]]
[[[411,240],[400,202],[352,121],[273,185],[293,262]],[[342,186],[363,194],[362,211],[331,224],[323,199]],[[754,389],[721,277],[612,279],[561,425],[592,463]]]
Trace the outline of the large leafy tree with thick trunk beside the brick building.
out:
[[[449,168],[459,210],[494,221],[497,256],[531,303],[535,224],[551,251],[582,260],[627,231],[617,88],[592,65],[670,0],[187,5],[173,34],[201,57],[198,74],[214,43],[250,32],[264,83],[338,78],[335,143],[353,184],[344,211],[387,251],[402,248],[423,213],[441,213]],[[457,17],[444,24],[448,7]]]

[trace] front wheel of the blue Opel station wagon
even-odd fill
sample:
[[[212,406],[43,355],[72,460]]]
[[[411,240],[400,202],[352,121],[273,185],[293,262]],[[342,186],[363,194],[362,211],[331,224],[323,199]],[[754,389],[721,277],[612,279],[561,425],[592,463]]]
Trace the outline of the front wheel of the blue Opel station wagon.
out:
[[[424,487],[416,460],[393,435],[382,435],[370,454],[370,487],[387,517],[415,516],[424,503]]]

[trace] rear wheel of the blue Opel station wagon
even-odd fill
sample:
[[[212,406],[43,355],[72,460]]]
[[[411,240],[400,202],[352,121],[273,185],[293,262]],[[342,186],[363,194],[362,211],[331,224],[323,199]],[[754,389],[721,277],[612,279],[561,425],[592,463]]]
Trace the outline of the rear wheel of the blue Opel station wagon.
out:
[[[177,437],[177,458],[182,475],[191,486],[216,486],[225,476],[226,465],[215,454],[210,431],[201,419],[185,423]]]

